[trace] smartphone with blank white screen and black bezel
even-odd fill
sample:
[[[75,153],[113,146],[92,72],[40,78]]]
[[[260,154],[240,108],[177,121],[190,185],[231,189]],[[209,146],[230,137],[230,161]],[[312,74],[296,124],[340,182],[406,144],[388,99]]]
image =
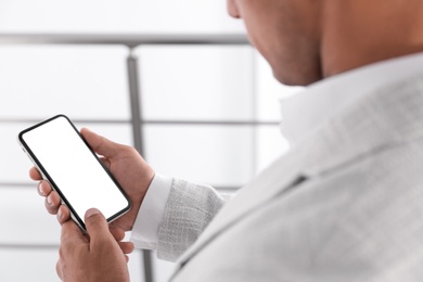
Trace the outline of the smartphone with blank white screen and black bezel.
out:
[[[131,203],[119,183],[65,115],[23,130],[18,142],[84,231],[89,208],[102,211],[107,222],[130,209]]]

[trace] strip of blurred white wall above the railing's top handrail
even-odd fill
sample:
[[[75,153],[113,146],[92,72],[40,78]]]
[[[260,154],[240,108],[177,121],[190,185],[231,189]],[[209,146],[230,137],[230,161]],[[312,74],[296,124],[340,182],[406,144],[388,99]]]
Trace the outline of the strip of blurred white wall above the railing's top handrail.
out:
[[[2,0],[1,31],[238,33],[226,0]]]

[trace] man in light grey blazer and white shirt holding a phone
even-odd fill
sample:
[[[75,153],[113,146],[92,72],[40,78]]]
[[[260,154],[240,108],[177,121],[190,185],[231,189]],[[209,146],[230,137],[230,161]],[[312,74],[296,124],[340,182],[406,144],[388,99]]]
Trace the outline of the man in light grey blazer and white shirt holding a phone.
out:
[[[422,281],[423,1],[228,0],[228,11],[281,82],[311,85],[283,104],[292,150],[222,207],[211,188],[155,175],[84,129],[134,205],[111,232],[90,209],[88,240],[41,181],[62,223],[60,277],[127,280],[131,245],[118,242],[132,229],[137,246],[177,259],[172,281]]]

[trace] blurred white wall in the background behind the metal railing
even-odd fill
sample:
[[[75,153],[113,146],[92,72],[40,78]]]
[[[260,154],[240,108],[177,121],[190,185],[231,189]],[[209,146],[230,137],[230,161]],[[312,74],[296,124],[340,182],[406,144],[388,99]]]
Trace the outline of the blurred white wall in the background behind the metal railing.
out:
[[[3,0],[1,33],[245,33],[225,0]],[[121,46],[0,44],[0,281],[57,281],[59,226],[27,177],[20,130],[57,113],[85,120],[132,144],[126,59]],[[274,121],[262,126],[145,126],[145,157],[162,174],[219,187],[242,187],[287,149],[275,121],[278,100],[292,92],[274,81],[248,46],[136,49],[143,118],[188,121]],[[256,95],[257,94],[257,95]],[[30,120],[30,121],[28,121]],[[172,265],[154,259],[155,281]],[[130,259],[143,281],[142,258]]]

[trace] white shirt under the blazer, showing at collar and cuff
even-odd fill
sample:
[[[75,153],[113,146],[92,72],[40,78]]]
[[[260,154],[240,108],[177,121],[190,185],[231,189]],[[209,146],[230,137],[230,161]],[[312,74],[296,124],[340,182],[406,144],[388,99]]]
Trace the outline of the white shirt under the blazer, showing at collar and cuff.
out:
[[[355,100],[421,72],[423,53],[387,60],[323,79],[294,97],[281,100],[281,130],[295,144]],[[136,247],[156,248],[171,183],[171,178],[155,175],[132,229],[131,241]]]

